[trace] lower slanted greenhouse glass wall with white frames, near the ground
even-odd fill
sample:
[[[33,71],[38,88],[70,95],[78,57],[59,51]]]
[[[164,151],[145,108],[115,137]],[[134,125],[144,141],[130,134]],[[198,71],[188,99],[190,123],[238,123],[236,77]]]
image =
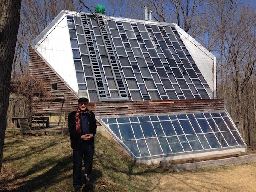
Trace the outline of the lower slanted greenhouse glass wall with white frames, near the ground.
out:
[[[135,158],[244,146],[226,112],[102,118]]]

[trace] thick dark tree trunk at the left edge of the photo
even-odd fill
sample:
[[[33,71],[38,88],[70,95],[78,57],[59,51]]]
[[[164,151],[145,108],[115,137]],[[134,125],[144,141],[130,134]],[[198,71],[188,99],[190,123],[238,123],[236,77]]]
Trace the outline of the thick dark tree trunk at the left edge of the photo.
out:
[[[21,0],[0,1],[0,173],[9,105],[12,61],[20,23]]]

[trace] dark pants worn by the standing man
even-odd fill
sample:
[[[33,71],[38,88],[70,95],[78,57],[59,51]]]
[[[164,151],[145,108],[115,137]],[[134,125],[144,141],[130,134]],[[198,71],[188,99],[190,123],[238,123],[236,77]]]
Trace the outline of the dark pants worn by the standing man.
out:
[[[90,184],[92,184],[94,148],[91,145],[82,144],[79,151],[73,150],[73,185],[75,188],[81,188],[82,160],[84,160],[84,171],[88,175]]]

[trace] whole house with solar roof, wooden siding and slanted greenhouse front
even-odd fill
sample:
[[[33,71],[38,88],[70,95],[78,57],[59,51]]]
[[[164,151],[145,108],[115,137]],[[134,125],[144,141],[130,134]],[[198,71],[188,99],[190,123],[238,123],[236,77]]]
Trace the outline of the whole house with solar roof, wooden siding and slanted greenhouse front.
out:
[[[34,113],[67,120],[85,96],[137,162],[246,152],[216,98],[215,56],[175,23],[64,10],[31,43],[29,70],[52,94]]]

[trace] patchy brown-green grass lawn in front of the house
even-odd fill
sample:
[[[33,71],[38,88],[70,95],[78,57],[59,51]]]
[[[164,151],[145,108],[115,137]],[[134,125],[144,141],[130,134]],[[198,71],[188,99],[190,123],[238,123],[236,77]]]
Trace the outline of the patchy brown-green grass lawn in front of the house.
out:
[[[256,163],[172,173],[160,164],[134,163],[100,133],[95,144],[95,192],[256,190]],[[1,192],[73,191],[69,137],[6,131],[3,156]]]

